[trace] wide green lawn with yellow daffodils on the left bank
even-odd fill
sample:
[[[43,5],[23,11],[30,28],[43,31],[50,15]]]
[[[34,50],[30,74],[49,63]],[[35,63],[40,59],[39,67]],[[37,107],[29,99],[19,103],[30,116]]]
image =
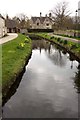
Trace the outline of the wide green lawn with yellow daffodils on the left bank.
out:
[[[31,54],[31,40],[25,35],[2,45],[2,92],[6,95],[8,89],[22,71]]]

